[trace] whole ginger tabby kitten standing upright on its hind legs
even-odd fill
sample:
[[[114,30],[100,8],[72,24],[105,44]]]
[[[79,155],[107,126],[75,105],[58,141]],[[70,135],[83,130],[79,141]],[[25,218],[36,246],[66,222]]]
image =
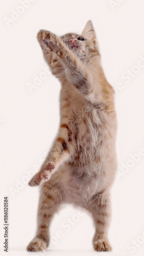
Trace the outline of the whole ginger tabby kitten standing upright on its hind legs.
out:
[[[110,251],[110,187],[116,173],[114,90],[101,67],[92,22],[81,35],[58,37],[40,30],[43,56],[61,82],[60,127],[40,171],[29,182],[42,184],[36,237],[28,251],[49,245],[49,226],[62,203],[88,210],[93,218],[96,251]]]

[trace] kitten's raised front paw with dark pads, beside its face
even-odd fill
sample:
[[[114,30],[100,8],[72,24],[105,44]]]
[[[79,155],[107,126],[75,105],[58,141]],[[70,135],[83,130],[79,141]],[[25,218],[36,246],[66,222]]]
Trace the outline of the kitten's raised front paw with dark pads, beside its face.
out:
[[[37,34],[37,39],[42,49],[45,46],[45,48],[53,51],[54,48],[57,46],[57,37],[50,31],[40,30]]]

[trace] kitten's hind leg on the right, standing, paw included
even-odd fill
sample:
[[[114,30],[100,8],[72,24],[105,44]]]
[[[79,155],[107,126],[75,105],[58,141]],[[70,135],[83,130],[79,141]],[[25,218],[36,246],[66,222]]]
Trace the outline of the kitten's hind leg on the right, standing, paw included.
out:
[[[111,251],[107,232],[110,224],[111,205],[109,191],[99,193],[92,198],[87,208],[93,217],[96,228],[93,237],[93,247],[95,251]]]

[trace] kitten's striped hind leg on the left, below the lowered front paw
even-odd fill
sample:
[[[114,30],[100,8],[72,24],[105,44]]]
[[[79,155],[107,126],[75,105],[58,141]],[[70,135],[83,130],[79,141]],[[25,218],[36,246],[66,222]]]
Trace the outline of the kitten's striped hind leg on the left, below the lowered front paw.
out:
[[[49,227],[55,212],[62,203],[60,187],[52,182],[43,184],[38,206],[36,237],[29,243],[28,251],[43,251],[49,245]]]

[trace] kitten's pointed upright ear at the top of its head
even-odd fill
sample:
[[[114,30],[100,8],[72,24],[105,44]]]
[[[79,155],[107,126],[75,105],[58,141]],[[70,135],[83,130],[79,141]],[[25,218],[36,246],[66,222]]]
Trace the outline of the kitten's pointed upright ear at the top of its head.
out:
[[[96,38],[96,34],[91,20],[88,20],[88,22],[86,23],[82,35],[90,41]]]

